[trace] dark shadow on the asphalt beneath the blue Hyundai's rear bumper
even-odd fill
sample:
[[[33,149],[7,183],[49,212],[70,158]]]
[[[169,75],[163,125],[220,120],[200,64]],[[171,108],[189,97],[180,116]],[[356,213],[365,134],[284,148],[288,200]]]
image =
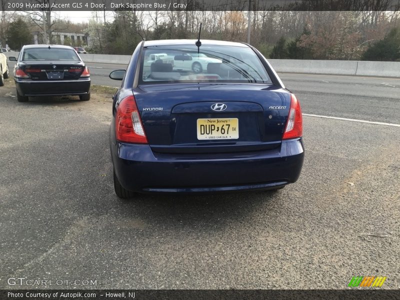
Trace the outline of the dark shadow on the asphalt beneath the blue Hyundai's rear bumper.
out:
[[[140,219],[145,224],[185,229],[219,230],[249,223],[267,215],[279,215],[283,191],[247,191],[210,194],[151,195],[121,200],[116,196],[112,212],[125,221]]]

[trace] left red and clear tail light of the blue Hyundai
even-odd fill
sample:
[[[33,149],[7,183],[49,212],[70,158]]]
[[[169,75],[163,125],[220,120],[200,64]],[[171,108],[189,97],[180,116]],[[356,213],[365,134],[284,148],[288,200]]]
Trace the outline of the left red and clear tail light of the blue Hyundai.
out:
[[[147,143],[133,95],[123,98],[115,113],[115,137],[119,141]]]

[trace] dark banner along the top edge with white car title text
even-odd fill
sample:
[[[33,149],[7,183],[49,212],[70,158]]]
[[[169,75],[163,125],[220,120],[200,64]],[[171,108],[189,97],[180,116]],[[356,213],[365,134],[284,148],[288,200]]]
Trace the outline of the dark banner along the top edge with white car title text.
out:
[[[400,0],[4,0],[2,10],[238,10],[388,11]]]

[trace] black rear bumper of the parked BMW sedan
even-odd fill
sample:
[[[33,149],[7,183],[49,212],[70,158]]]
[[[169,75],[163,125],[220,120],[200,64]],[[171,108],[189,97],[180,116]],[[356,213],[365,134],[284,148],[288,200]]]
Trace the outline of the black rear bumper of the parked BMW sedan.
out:
[[[30,80],[14,78],[22,96],[82,95],[90,91],[90,78],[76,80]]]

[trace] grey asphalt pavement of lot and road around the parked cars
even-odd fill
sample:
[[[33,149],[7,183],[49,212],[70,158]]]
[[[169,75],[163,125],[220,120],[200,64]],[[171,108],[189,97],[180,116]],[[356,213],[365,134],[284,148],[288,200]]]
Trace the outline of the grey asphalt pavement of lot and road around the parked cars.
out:
[[[112,67],[91,68],[93,83],[107,84]],[[304,113],[400,123],[399,79],[281,78]],[[18,103],[11,85],[0,87],[0,288],[32,287],[7,284],[25,277],[96,280],[66,288],[341,289],[355,275],[400,288],[400,127],[304,116],[301,176],[276,193],[123,201],[110,101]]]

